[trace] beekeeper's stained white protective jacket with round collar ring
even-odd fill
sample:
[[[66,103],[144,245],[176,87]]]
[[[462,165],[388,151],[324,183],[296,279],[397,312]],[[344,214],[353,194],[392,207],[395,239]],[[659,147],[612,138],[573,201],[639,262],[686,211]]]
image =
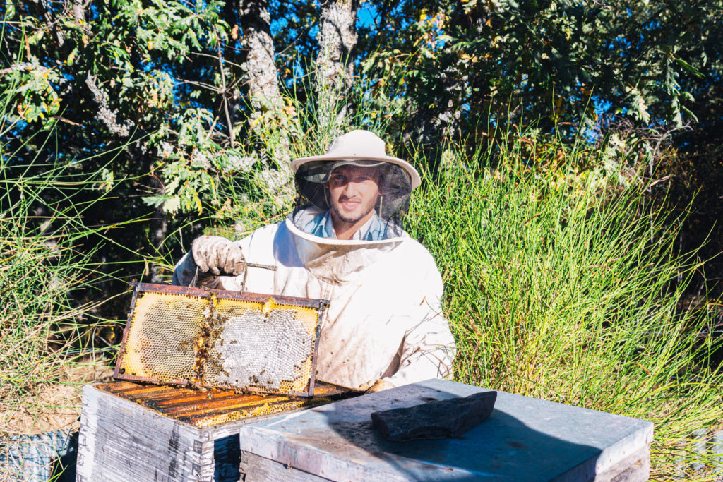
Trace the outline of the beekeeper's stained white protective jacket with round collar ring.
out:
[[[244,291],[330,300],[322,319],[317,378],[358,388],[449,376],[454,340],[442,315],[442,279],[432,256],[407,233],[381,241],[322,238],[302,231],[320,211],[307,208],[236,241],[249,263]],[[196,264],[187,253],[174,284]],[[209,288],[239,291],[243,276],[218,276]]]

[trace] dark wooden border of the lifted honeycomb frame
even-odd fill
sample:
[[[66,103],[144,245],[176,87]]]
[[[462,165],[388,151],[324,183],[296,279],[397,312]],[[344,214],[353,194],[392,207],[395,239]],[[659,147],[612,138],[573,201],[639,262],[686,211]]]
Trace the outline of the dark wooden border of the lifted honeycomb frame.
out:
[[[307,392],[288,392],[286,395],[292,395],[292,396],[301,396],[301,397],[312,397],[314,395],[314,384],[315,384],[315,376],[314,373],[316,371],[316,363],[317,363],[317,353],[319,349],[319,338],[320,338],[320,329],[321,329],[321,319],[323,316],[323,313],[326,308],[328,308],[330,302],[325,299],[315,299],[315,298],[299,298],[295,296],[283,296],[283,295],[270,295],[270,294],[262,294],[262,293],[250,293],[248,291],[239,292],[239,291],[226,291],[226,290],[215,290],[212,288],[198,288],[198,287],[192,287],[192,286],[177,286],[177,285],[162,285],[162,284],[155,284],[155,283],[138,283],[136,281],[133,281],[129,283],[129,287],[134,288],[130,309],[128,311],[128,318],[126,322],[126,327],[123,331],[123,339],[121,340],[121,346],[119,348],[119,354],[118,358],[116,360],[116,367],[114,370],[114,378],[115,379],[125,379],[130,380],[134,382],[151,382],[151,383],[158,383],[159,380],[156,379],[150,379],[144,376],[134,376],[130,374],[123,374],[121,371],[121,363],[122,363],[122,357],[126,350],[126,344],[127,344],[127,336],[128,332],[130,330],[134,309],[136,307],[136,300],[139,295],[139,293],[166,293],[166,294],[176,294],[181,296],[209,296],[210,294],[215,295],[217,298],[228,298],[228,299],[234,299],[238,301],[248,301],[253,303],[266,303],[270,299],[273,300],[273,303],[275,304],[286,304],[291,306],[300,306],[304,308],[309,309],[316,309],[318,312],[318,319],[317,319],[317,332],[316,332],[316,340],[315,345],[313,349],[313,355],[312,355],[312,376],[311,379],[309,379],[309,387]],[[189,384],[188,380],[173,380],[168,382],[161,382],[161,383],[171,383],[176,385],[187,385]],[[248,387],[248,392],[260,392],[260,390],[256,389],[255,387]]]

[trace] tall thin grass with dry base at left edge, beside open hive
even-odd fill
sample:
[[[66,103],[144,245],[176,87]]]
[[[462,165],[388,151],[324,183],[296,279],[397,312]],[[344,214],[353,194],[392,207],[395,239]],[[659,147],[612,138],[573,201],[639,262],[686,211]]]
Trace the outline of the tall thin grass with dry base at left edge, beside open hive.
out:
[[[1,97],[1,96],[0,96]],[[80,386],[104,362],[95,314],[108,296],[93,289],[99,273],[83,215],[93,209],[96,173],[82,160],[46,160],[40,151],[53,130],[17,141],[15,123],[0,115],[0,437],[71,429],[80,413]],[[30,143],[38,143],[30,148]],[[60,157],[60,156],[59,156]],[[80,173],[79,173],[80,171]],[[98,194],[98,198],[103,194]]]

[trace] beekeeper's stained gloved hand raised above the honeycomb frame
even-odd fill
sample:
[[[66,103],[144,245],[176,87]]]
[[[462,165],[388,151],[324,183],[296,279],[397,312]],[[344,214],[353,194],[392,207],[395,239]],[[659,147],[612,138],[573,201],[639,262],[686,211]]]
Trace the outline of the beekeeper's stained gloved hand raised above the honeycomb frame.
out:
[[[221,236],[200,236],[191,245],[199,274],[238,276],[244,273],[241,247]]]

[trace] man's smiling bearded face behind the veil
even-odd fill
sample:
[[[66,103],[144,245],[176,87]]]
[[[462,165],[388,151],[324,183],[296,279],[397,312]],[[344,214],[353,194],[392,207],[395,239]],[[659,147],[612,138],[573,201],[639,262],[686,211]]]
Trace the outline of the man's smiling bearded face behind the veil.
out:
[[[333,218],[344,223],[366,223],[379,197],[379,181],[376,168],[357,165],[335,168],[326,184]]]

